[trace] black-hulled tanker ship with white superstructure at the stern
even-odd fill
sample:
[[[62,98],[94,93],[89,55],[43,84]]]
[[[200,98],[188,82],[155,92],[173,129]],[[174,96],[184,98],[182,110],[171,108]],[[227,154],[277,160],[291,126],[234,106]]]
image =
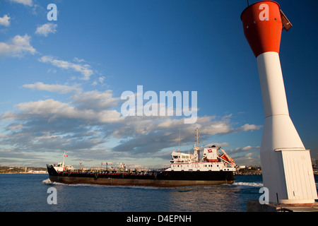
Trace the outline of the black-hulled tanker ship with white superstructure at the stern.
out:
[[[127,169],[124,162],[102,162],[105,167],[84,169],[63,162],[47,164],[51,182],[62,184],[98,184],[110,186],[202,186],[233,184],[237,165],[221,147],[204,148],[200,158],[199,130],[192,153],[172,151],[170,167],[165,169]],[[116,166],[116,167],[113,167]]]

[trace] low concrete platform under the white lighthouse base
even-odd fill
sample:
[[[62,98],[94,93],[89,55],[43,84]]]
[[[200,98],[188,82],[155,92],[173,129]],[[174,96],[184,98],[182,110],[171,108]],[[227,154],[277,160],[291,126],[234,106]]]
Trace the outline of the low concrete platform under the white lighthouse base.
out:
[[[247,201],[247,212],[318,212],[318,202],[306,204],[261,204],[259,200]]]

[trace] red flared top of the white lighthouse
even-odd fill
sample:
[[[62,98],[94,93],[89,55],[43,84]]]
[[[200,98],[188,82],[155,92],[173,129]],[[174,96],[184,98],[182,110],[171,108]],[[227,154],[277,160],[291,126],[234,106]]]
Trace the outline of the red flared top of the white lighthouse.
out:
[[[277,52],[281,44],[281,7],[276,1],[259,1],[242,12],[244,34],[255,57]]]

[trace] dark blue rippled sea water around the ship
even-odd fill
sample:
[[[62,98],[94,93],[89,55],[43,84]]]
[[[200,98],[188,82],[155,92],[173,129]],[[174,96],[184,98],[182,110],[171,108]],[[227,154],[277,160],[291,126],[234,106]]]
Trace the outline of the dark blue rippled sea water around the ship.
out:
[[[237,176],[231,185],[154,188],[64,185],[49,182],[47,174],[0,174],[0,211],[245,212],[247,200],[261,195],[261,186],[261,176]],[[57,204],[49,205],[51,187]]]

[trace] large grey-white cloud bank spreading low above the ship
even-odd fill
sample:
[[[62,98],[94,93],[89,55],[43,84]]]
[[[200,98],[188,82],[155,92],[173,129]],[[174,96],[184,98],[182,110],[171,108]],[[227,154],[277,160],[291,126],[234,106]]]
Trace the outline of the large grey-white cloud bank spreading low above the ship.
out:
[[[196,124],[184,124],[181,117],[123,117],[118,110],[122,100],[114,97],[112,90],[83,92],[76,85],[40,82],[25,84],[23,88],[69,95],[69,102],[21,102],[13,111],[2,113],[0,120],[6,126],[0,142],[10,147],[3,148],[3,152],[60,153],[66,149],[82,160],[118,156],[168,159],[179,142],[184,146],[193,144],[196,127],[202,143],[216,134],[261,128],[253,124],[235,127],[230,117],[198,117]]]

